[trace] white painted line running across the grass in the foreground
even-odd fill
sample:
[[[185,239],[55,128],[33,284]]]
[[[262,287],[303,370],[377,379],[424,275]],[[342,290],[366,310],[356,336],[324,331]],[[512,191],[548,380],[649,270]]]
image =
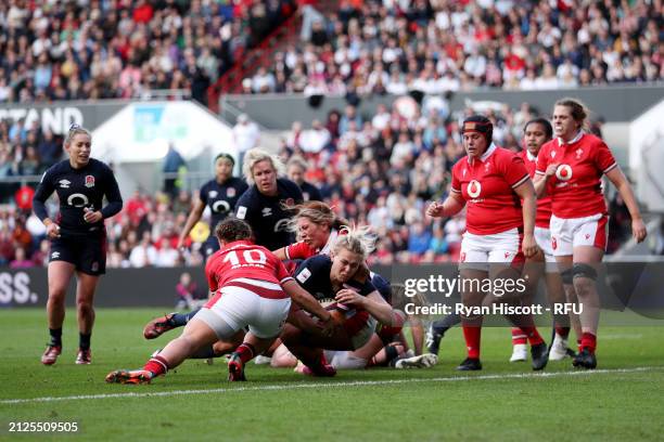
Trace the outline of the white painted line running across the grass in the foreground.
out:
[[[279,391],[279,390],[297,390],[297,389],[322,389],[322,388],[340,388],[340,387],[373,387],[373,386],[391,386],[401,384],[423,384],[423,382],[459,382],[473,380],[502,380],[502,379],[540,379],[553,377],[573,377],[573,376],[593,376],[605,374],[623,374],[623,373],[642,373],[662,370],[662,366],[651,367],[634,367],[634,368],[613,368],[613,369],[595,369],[584,372],[552,372],[552,373],[514,373],[507,375],[480,375],[480,376],[448,376],[435,378],[409,378],[409,379],[385,379],[385,380],[352,380],[352,381],[328,381],[328,382],[295,382],[277,386],[259,386],[259,387],[239,387],[239,388],[212,388],[206,390],[174,390],[174,391],[157,391],[157,392],[128,392],[128,393],[112,393],[112,394],[80,394],[69,396],[47,396],[47,398],[28,398],[28,399],[5,399],[1,400],[0,404],[24,404],[35,402],[61,402],[61,401],[86,401],[98,399],[125,399],[125,398],[163,398],[178,396],[189,394],[215,394],[215,393],[238,393],[245,391]],[[142,389],[143,386],[125,386],[118,388]]]

